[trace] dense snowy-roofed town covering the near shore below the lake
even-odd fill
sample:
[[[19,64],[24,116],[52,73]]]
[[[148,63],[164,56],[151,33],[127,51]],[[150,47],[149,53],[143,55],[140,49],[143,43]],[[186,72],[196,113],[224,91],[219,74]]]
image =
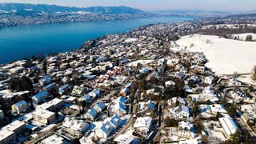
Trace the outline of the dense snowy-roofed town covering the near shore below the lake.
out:
[[[254,143],[255,85],[176,43],[202,26],[142,26],[2,65],[0,143]]]

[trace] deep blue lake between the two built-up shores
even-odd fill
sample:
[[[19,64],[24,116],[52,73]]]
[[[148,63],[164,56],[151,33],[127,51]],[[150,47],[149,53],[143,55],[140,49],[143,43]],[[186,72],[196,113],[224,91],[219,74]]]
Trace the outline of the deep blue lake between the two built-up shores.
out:
[[[0,30],[0,64],[38,56],[41,52],[64,52],[106,34],[124,33],[148,24],[183,22],[194,17],[137,18],[122,21],[78,22],[40,26],[16,26]]]

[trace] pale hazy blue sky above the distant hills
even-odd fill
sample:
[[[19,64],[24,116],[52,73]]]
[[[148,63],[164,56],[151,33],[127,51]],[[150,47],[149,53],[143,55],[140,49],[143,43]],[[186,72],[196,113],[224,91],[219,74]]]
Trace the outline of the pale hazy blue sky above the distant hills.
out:
[[[0,0],[60,6],[131,6],[141,10],[256,10],[256,0]]]

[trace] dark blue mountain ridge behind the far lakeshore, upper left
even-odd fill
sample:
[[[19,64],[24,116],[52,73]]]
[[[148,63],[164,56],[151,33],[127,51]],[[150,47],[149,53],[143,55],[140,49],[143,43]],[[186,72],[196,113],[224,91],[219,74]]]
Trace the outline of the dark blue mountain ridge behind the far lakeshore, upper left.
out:
[[[146,12],[127,6],[92,6],[92,7],[68,7],[45,4],[1,3],[0,13],[21,13],[24,11],[37,13],[67,13],[85,12],[92,14],[145,14]]]

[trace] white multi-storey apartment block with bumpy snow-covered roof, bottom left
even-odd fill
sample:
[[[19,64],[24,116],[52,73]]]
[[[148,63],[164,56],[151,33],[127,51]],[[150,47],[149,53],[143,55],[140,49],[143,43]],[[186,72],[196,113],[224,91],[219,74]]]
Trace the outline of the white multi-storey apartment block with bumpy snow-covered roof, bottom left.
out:
[[[69,133],[75,138],[80,138],[82,134],[84,134],[86,130],[88,130],[88,128],[88,123],[75,118],[66,117],[64,119],[64,122],[62,123],[62,130]]]

